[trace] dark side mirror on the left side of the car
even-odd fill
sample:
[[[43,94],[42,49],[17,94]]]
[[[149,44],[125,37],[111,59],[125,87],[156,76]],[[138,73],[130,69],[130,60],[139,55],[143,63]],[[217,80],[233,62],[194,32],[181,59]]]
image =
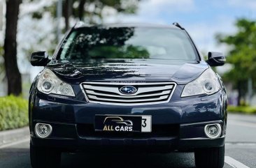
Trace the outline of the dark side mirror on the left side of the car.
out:
[[[47,52],[33,52],[31,54],[30,63],[32,66],[46,66],[49,61]]]

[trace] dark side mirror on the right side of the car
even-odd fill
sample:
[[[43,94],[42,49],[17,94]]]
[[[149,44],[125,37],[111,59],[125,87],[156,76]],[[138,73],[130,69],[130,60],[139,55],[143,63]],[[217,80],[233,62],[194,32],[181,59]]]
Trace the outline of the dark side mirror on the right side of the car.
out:
[[[221,52],[208,52],[208,60],[210,66],[223,66],[225,64],[225,56]]]

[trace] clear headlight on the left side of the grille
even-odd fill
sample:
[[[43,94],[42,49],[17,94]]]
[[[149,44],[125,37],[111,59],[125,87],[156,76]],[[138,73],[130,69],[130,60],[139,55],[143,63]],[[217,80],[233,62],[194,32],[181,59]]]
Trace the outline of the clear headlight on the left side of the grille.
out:
[[[75,97],[71,85],[63,82],[48,68],[45,68],[45,70],[41,72],[37,83],[37,89],[45,94],[53,93]]]

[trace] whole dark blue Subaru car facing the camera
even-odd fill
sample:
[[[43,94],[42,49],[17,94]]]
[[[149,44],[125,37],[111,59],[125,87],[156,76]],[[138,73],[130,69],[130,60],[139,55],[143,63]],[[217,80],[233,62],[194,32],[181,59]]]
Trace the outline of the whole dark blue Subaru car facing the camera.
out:
[[[227,95],[179,24],[76,24],[57,47],[31,55],[44,66],[31,86],[33,168],[62,152],[194,151],[201,168],[224,165]]]

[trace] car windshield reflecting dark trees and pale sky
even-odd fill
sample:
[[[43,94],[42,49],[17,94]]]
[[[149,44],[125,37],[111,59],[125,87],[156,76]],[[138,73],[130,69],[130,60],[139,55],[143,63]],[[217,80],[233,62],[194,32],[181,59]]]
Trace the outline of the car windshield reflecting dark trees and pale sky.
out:
[[[197,60],[185,31],[171,28],[86,27],[64,41],[60,59]]]

